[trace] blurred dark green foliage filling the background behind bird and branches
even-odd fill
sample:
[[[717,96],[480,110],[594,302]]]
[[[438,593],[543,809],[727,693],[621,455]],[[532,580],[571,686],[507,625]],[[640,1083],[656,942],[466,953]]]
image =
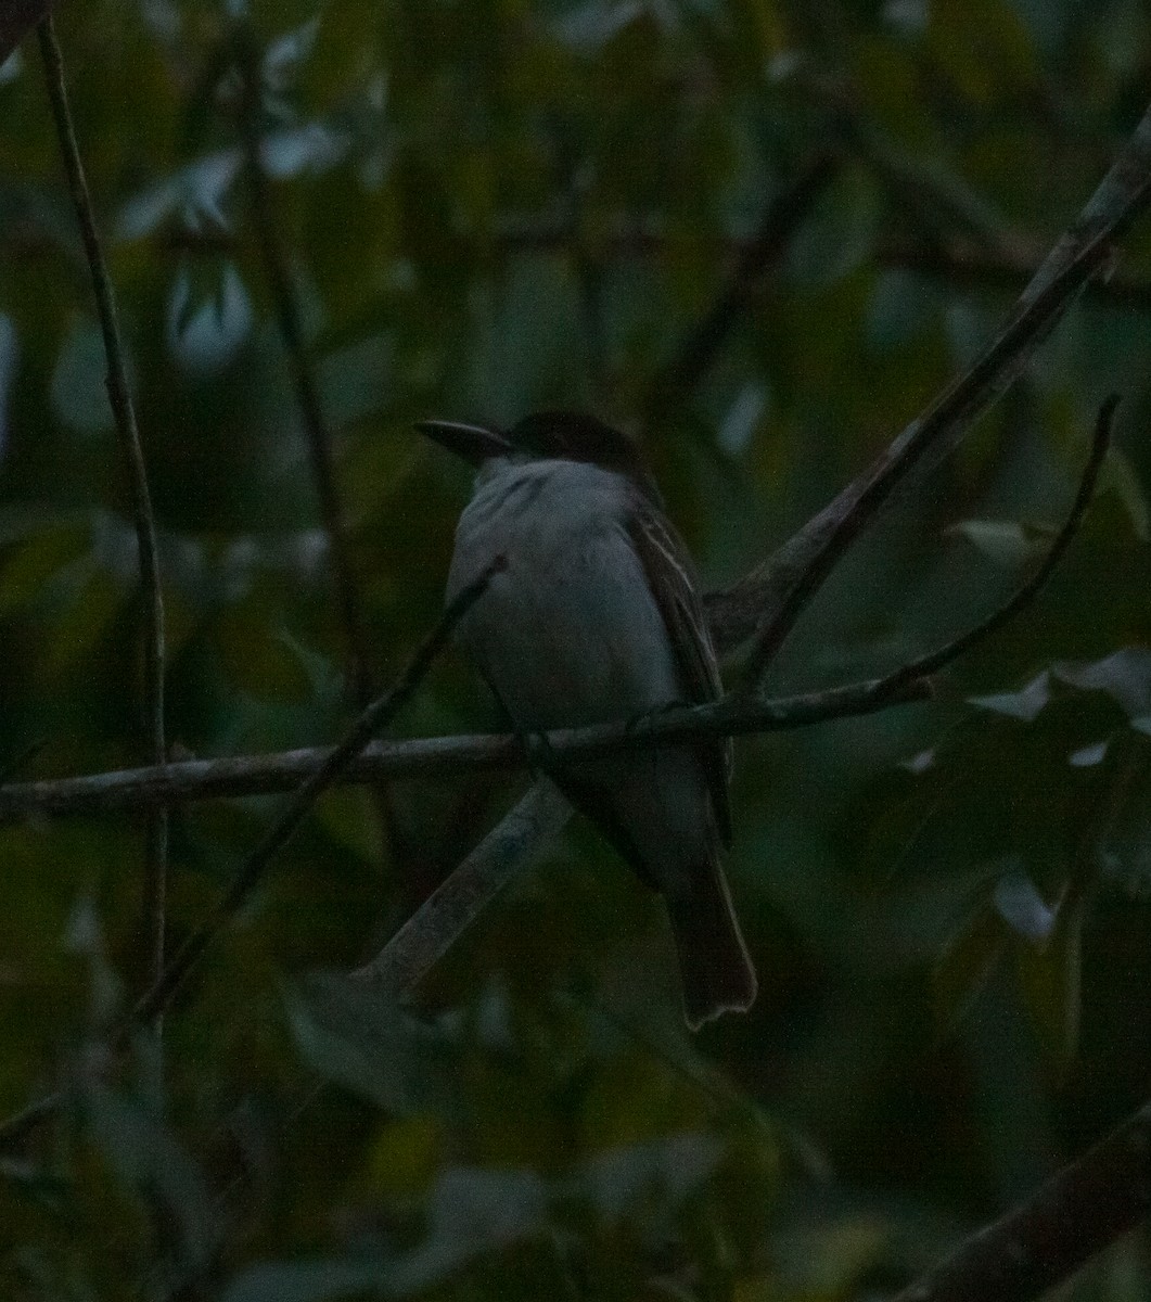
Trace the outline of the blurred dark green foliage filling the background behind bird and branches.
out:
[[[995,331],[1144,109],[1142,0],[65,3],[156,505],[169,736],[327,742],[346,629],[243,184],[237,21],[371,676],[435,621],[464,467],[430,415],[635,432],[708,582],[767,555]],[[697,383],[677,362],[829,159]],[[35,42],[0,68],[0,760],[145,762],[141,602]],[[401,1013],[365,961],[518,790],[326,797],[167,1019],[0,1164],[5,1297],[855,1297],[1148,1094],[1151,225],[773,672],[881,671],[999,602],[1118,441],[1040,600],[930,704],[737,747],[754,1012],[694,1040],[660,909],[586,827]],[[398,721],[497,727],[445,659]],[[276,809],[173,815],[171,936]],[[142,824],[0,828],[0,1101],[145,979]],[[160,1078],[163,1077],[163,1083]],[[1146,1243],[1075,1285],[1148,1295]]]

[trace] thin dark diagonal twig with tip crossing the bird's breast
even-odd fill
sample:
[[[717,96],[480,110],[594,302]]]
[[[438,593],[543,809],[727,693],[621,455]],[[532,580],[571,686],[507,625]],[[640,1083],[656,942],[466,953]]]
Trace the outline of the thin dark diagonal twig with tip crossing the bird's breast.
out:
[[[374,700],[359,715],[342,741],[328,751],[324,763],[314,769],[299,785],[280,816],[249,854],[240,872],[233,879],[232,885],[220,897],[216,907],[184,941],[180,949],[176,950],[151,988],[141,996],[130,1014],[120,1025],[118,1030],[113,1032],[111,1039],[117,1048],[124,1047],[134,1026],[151,1022],[168,1008],[191,969],[199,962],[216,936],[236,917],[251,894],[272,855],[289,841],[316,799],[336,781],[342,769],[359,751],[363,750],[372,733],[380,728],[385,728],[411,698],[411,694],[424,680],[436,658],[447,646],[456,625],[483,595],[495,569],[496,566],[491,566],[474,583],[460,592],[444,611],[432,631],[415,648],[415,652],[392,689]],[[64,1091],[56,1091],[55,1094],[36,1099],[16,1116],[0,1122],[0,1143],[10,1144],[22,1139],[42,1121],[55,1116],[64,1105],[65,1099],[66,1094]]]

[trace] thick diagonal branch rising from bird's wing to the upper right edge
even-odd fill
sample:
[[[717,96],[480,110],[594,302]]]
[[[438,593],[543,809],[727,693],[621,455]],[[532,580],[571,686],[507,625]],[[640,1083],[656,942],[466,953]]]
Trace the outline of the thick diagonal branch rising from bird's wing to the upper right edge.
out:
[[[888,450],[773,556],[708,598],[721,651],[753,634],[758,678],[796,620],[863,527],[928,454],[950,450],[1016,379],[1078,290],[1108,260],[1115,240],[1151,199],[1151,111],[1103,184],[1023,290],[1008,326],[982,357]]]

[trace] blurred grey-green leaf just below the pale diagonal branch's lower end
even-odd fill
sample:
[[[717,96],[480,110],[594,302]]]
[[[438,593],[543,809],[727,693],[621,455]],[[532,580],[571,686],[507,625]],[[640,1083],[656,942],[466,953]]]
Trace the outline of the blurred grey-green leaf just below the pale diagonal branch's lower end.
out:
[[[456,1108],[449,1043],[395,1000],[335,973],[296,983],[285,1000],[299,1052],[327,1079],[401,1116]]]

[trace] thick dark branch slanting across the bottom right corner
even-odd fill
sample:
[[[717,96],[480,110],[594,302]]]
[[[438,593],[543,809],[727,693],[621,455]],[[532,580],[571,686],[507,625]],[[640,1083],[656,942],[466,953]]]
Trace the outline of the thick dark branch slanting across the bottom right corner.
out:
[[[1026,1302],[1151,1211],[1151,1103],[892,1302]]]

